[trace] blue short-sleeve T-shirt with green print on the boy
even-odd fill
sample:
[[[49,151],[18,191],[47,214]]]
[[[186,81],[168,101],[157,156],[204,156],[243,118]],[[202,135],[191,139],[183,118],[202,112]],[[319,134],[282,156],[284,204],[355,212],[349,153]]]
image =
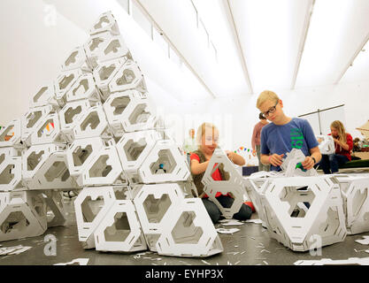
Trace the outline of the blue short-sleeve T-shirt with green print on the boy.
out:
[[[285,125],[269,123],[261,130],[260,153],[284,154],[292,149],[301,149],[305,156],[310,156],[310,149],[319,145],[314,132],[305,119],[293,118]],[[271,165],[271,170],[280,171],[280,166]]]

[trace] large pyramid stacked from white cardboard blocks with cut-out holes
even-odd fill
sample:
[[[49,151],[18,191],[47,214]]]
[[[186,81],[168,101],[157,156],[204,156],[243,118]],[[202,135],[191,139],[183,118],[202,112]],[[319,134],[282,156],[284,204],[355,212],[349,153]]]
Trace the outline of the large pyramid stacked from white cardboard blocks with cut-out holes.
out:
[[[64,225],[60,193],[80,189],[74,207],[85,249],[222,252],[186,159],[150,98],[117,21],[105,12],[65,57],[58,78],[0,132],[0,241]]]

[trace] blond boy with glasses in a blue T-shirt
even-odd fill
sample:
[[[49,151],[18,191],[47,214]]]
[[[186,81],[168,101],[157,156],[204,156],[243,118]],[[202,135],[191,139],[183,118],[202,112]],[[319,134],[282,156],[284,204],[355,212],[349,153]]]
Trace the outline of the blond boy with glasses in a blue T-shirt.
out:
[[[265,119],[272,122],[261,131],[260,160],[263,164],[271,164],[272,171],[281,171],[282,158],[292,149],[303,151],[305,170],[319,163],[319,143],[307,120],[287,117],[281,99],[273,91],[263,91],[258,96],[257,107]]]

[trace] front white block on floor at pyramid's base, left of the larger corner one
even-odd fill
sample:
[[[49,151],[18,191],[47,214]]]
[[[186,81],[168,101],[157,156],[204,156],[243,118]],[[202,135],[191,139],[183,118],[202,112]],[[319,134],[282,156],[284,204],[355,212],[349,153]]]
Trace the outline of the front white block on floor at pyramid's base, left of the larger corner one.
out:
[[[94,235],[96,250],[134,252],[147,249],[132,200],[113,203]]]

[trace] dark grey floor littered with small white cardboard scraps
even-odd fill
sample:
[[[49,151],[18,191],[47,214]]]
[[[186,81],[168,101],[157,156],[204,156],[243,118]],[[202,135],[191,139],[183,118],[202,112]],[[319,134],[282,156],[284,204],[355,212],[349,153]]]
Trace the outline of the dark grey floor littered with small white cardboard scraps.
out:
[[[345,241],[341,243],[324,247],[322,249],[322,256],[311,256],[309,252],[300,253],[284,248],[279,242],[271,239],[261,225],[253,223],[234,226],[241,229],[241,231],[232,235],[219,234],[220,240],[223,243],[224,252],[207,258],[158,256],[156,253],[137,256],[137,253],[115,254],[103,253],[95,249],[84,250],[78,241],[77,226],[75,225],[73,214],[73,202],[67,201],[65,205],[70,210],[67,226],[50,228],[39,237],[1,242],[0,244],[3,247],[23,245],[30,246],[32,249],[19,255],[0,256],[0,264],[50,265],[71,262],[75,258],[88,258],[88,265],[288,265],[294,264],[297,260],[369,257],[369,254],[365,253],[365,249],[369,249],[369,246],[363,246],[355,242],[355,240],[361,239],[363,235],[368,235],[369,233],[347,236]],[[258,218],[258,215],[254,214],[252,218]],[[226,228],[230,228],[230,226]],[[43,239],[47,234],[54,234],[57,237],[57,256],[44,255],[43,249],[47,242],[44,242]],[[264,246],[265,248],[258,248],[258,246]]]

